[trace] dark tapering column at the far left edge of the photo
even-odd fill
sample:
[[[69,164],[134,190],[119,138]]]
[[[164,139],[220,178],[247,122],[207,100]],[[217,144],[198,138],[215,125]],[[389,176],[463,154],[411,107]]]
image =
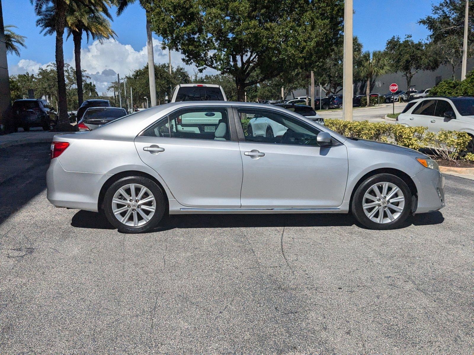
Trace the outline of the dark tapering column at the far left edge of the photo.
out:
[[[7,49],[5,47],[5,34],[3,28],[3,14],[0,0],[0,133],[2,130],[9,130],[11,127],[11,100],[10,85],[7,64]],[[3,129],[2,129],[3,128]]]

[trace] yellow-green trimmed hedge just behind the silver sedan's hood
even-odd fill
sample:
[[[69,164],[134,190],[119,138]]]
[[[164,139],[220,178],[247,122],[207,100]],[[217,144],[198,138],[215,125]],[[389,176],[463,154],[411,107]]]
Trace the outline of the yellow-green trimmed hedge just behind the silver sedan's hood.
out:
[[[456,160],[465,151],[471,136],[465,132],[427,132],[427,127],[407,127],[401,124],[354,122],[325,119],[329,129],[345,135],[379,142],[389,142],[414,150],[430,148],[441,159]]]

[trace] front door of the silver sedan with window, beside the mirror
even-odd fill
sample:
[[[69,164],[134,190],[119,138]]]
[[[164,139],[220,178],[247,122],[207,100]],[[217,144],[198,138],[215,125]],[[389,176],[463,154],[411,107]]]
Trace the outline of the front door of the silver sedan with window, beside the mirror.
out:
[[[345,145],[319,147],[318,129],[277,110],[236,107],[234,112],[244,167],[243,208],[342,204],[348,171]],[[249,117],[255,115],[284,129],[273,137],[249,134]]]

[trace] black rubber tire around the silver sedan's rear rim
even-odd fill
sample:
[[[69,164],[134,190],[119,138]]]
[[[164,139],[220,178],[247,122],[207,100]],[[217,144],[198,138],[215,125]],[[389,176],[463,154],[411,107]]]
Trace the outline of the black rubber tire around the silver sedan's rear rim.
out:
[[[115,217],[112,211],[112,199],[115,193],[122,187],[128,184],[139,184],[145,186],[155,197],[155,213],[150,218],[148,222],[145,222],[139,226],[130,226],[120,222],[117,217]],[[130,176],[130,177],[122,177],[115,181],[112,185],[109,186],[107,189],[104,201],[102,204],[103,211],[105,216],[109,220],[110,224],[112,224],[118,231],[123,233],[141,233],[150,231],[151,229],[155,228],[156,225],[162,220],[163,213],[165,210],[165,200],[164,194],[160,186],[158,186],[155,181],[142,176]],[[124,211],[125,212],[125,211]],[[138,213],[137,213],[138,215]],[[141,217],[140,217],[141,218]]]

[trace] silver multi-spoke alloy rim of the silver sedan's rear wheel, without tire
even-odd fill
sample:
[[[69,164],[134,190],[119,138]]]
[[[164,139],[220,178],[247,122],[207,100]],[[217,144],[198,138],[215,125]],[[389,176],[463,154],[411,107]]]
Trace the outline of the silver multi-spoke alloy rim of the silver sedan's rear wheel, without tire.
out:
[[[112,212],[123,224],[142,226],[155,214],[155,197],[145,186],[128,184],[120,187],[112,199]]]

